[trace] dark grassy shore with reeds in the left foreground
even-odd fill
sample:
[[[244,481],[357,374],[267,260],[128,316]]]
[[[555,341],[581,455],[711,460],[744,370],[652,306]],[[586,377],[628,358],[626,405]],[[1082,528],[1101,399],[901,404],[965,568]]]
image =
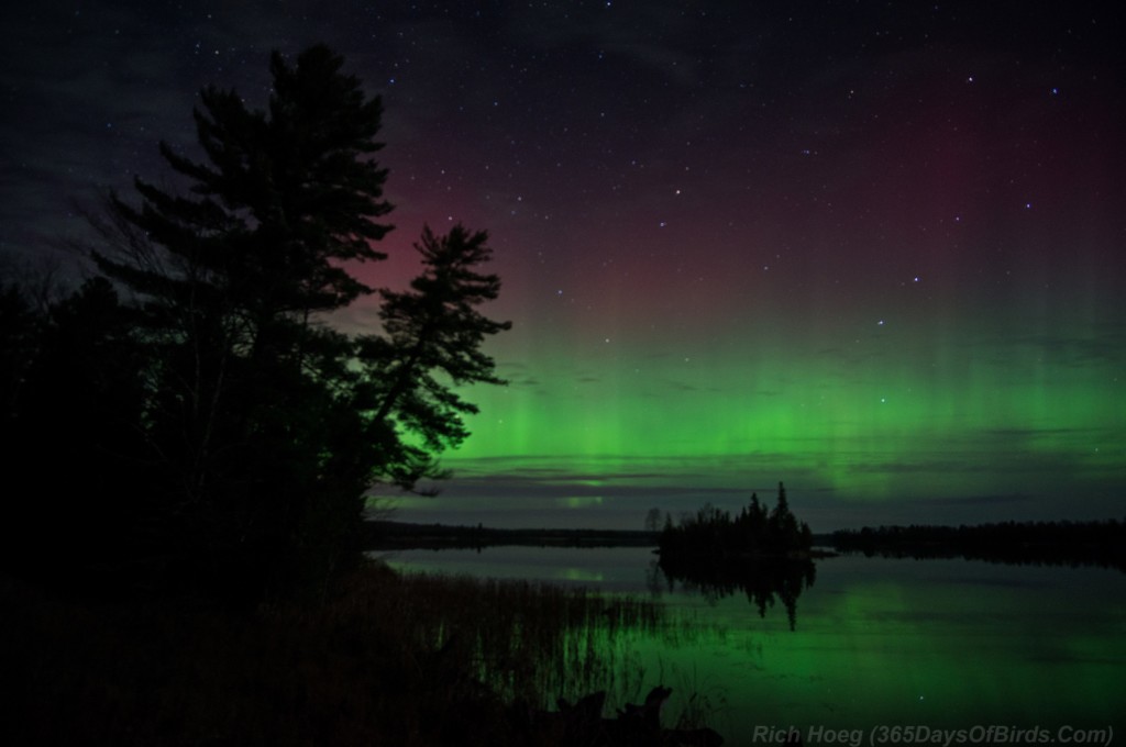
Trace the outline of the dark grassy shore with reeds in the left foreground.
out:
[[[382,566],[252,613],[0,594],[3,731],[21,745],[527,744],[515,703],[636,693],[629,637],[661,626],[631,597]]]

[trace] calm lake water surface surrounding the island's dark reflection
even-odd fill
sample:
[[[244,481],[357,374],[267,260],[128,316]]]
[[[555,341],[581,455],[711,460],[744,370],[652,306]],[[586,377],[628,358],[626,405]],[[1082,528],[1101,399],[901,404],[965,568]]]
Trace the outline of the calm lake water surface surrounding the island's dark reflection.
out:
[[[780,602],[760,616],[742,592],[670,588],[645,548],[385,557],[410,570],[659,600],[667,631],[618,633],[628,638],[624,660],[644,672],[622,698],[640,700],[663,683],[673,688],[667,722],[701,716],[727,745],[777,745],[789,728],[806,746],[1126,744],[1126,574],[1118,570],[828,558],[796,600],[792,629]]]

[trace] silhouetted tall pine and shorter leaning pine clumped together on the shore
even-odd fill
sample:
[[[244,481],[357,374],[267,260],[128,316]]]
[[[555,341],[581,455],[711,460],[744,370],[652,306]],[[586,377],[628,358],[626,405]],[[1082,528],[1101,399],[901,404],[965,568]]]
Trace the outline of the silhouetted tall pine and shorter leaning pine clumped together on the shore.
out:
[[[327,324],[375,292],[345,263],[384,259],[374,242],[391,230],[378,222],[387,172],[373,158],[382,105],[342,66],[323,45],[293,65],[275,53],[265,111],[204,89],[194,114],[205,161],[160,146],[186,188],[137,179],[138,204],[110,195],[93,219],[105,278],[66,304],[98,302],[87,336],[116,341],[128,367],[99,358],[75,376],[107,380],[102,404],[124,428],[110,433],[101,412],[74,417],[83,439],[124,454],[86,458],[99,479],[125,480],[122,460],[132,466],[143,505],[131,514],[158,540],[122,522],[99,530],[160,583],[243,597],[322,584],[358,557],[372,483],[440,475],[437,453],[468,434],[462,416],[476,408],[456,387],[502,382],[481,350],[509,327],[476,310],[500,288],[477,270],[491,256],[483,232],[423,232],[411,290],[381,291],[384,336]],[[52,378],[59,354],[42,348],[39,385],[64,386]],[[52,412],[34,397],[17,410],[25,424]]]

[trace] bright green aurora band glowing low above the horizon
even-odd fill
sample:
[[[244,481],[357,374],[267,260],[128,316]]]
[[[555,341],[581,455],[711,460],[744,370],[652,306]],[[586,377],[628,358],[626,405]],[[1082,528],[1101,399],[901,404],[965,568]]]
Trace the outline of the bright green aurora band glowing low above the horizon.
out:
[[[611,338],[511,364],[509,387],[472,393],[482,414],[445,461],[448,500],[404,501],[404,518],[637,528],[649,506],[744,503],[779,479],[819,531],[896,506],[920,522],[1117,515],[1118,333],[847,326],[792,340],[748,327],[676,352]]]

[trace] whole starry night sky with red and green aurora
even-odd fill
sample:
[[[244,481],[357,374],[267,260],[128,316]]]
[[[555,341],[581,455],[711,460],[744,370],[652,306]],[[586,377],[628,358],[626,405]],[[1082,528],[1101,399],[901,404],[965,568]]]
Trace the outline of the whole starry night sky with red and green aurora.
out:
[[[1105,9],[1100,10],[1098,4]],[[206,83],[325,42],[396,230],[488,230],[506,388],[397,518],[641,529],[785,480],[814,530],[1123,518],[1112,3],[59,2],[0,10],[0,249],[198,156]],[[70,267],[70,266],[66,266]],[[373,330],[370,303],[334,320]]]

